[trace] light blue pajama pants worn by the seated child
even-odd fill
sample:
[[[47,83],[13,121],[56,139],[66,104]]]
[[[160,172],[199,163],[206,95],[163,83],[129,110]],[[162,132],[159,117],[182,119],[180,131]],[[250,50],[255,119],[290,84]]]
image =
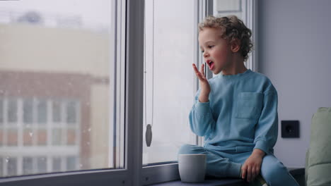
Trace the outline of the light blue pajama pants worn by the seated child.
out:
[[[184,144],[180,147],[178,154],[206,154],[207,175],[219,178],[239,178],[241,165],[252,154],[252,150],[233,148],[233,150],[230,149],[224,152]],[[272,154],[267,154],[263,157],[260,174],[269,186],[298,186],[298,183],[287,171],[283,163]]]

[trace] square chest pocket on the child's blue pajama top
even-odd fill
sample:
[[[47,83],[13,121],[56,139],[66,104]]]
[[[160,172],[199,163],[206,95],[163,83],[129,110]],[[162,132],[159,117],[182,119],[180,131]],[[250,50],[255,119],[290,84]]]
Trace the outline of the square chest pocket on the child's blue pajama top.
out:
[[[262,111],[263,94],[240,92],[237,97],[236,118],[257,119]]]

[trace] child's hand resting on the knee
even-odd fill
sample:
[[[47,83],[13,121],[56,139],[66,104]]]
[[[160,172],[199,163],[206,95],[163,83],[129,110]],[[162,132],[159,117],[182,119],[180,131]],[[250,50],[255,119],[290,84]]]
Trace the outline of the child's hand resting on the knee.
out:
[[[246,159],[241,167],[241,178],[245,179],[247,176],[248,182],[255,180],[255,177],[260,173],[263,156],[265,156],[264,151],[254,149],[252,154]]]

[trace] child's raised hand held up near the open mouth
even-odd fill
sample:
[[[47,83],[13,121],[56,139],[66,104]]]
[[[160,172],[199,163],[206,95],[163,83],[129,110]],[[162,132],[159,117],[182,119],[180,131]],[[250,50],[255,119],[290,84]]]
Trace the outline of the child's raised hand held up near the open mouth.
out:
[[[200,72],[197,69],[197,66],[195,66],[195,64],[192,64],[193,66],[193,70],[194,73],[197,75],[197,77],[199,78],[199,82],[201,85],[201,92],[200,92],[200,96],[199,96],[199,101],[200,102],[208,102],[209,99],[209,93],[210,93],[210,86],[209,86],[209,82],[206,78],[206,75],[204,75],[204,64],[202,64]]]

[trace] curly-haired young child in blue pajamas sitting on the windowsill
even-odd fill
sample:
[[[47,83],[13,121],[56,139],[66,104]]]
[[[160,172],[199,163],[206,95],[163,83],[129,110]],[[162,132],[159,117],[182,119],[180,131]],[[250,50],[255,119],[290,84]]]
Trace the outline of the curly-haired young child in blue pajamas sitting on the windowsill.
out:
[[[206,154],[209,176],[298,185],[273,154],[277,91],[265,75],[244,65],[252,50],[251,35],[236,16],[209,16],[199,23],[204,61],[216,77],[207,80],[204,65],[199,71],[193,64],[200,89],[190,112],[190,128],[204,137],[205,144],[185,144],[179,154]]]

